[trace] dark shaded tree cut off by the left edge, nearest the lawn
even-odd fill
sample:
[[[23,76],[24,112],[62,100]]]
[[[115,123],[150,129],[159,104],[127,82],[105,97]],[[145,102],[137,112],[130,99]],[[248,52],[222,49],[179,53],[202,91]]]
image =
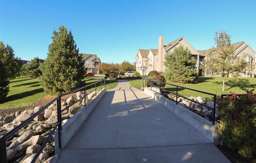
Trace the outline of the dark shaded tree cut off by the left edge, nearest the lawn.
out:
[[[0,60],[0,103],[4,102],[9,92],[9,79],[4,63]]]

